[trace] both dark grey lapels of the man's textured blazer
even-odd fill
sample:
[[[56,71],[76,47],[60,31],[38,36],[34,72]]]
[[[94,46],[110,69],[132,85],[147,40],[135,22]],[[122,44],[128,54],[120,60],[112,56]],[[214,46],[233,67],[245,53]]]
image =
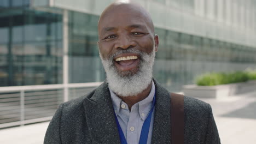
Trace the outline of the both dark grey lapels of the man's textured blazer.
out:
[[[170,143],[170,93],[154,80],[156,105],[152,143]],[[89,94],[90,95],[90,94]],[[108,84],[105,81],[84,101],[85,118],[91,136],[100,143],[120,143]],[[93,142],[92,142],[93,143]]]

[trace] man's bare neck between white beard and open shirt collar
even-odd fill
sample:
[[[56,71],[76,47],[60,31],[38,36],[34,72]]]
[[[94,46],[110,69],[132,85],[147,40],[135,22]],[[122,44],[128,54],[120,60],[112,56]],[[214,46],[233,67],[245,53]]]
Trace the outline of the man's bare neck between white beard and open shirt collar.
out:
[[[150,91],[151,91],[151,87],[152,87],[152,82],[149,84],[149,86],[144,89],[144,91],[142,91],[141,93],[137,94],[137,95],[131,95],[128,97],[121,97],[118,95],[118,97],[123,100],[129,107],[129,110],[131,111],[131,107],[138,103],[139,101],[145,99],[148,97]]]

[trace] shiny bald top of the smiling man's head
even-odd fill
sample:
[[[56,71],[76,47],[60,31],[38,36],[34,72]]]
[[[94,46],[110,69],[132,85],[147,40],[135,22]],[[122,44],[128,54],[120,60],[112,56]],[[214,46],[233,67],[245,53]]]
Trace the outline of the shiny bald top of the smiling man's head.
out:
[[[127,15],[129,17],[127,17]],[[116,19],[116,21],[111,21],[111,18]],[[129,19],[129,21],[136,21],[136,19],[140,19],[144,25],[150,29],[152,34],[154,34],[154,24],[148,11],[141,5],[129,0],[123,0],[116,1],[103,10],[100,19],[98,20],[99,36],[102,32],[102,28],[109,27],[110,25],[115,24],[115,22],[123,19]]]

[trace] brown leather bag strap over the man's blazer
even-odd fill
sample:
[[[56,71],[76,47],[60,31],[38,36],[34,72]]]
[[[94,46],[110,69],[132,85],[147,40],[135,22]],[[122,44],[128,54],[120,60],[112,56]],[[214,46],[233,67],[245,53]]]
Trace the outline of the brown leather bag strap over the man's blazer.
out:
[[[184,95],[171,93],[171,144],[184,143]]]

